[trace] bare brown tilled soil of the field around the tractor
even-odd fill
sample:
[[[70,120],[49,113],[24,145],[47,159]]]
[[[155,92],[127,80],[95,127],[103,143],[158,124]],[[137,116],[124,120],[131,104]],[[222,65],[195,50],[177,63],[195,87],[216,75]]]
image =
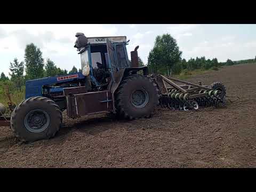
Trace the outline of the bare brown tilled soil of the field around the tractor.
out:
[[[228,106],[158,108],[152,118],[134,121],[65,117],[54,138],[31,144],[0,127],[0,167],[256,167],[256,65],[188,81],[223,82]]]

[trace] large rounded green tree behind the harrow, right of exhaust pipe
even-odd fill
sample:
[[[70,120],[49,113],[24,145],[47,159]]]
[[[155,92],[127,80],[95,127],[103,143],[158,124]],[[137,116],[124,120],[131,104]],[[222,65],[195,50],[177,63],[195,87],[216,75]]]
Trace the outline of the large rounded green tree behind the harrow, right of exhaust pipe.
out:
[[[152,73],[169,73],[181,60],[182,52],[176,40],[170,34],[157,36],[155,45],[148,56],[148,67]]]

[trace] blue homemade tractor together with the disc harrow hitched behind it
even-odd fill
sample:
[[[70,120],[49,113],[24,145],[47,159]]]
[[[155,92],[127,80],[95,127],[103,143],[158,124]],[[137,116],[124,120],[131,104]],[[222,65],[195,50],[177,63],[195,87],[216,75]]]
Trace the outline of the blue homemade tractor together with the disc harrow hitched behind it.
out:
[[[0,126],[10,124],[21,141],[53,137],[60,129],[64,110],[70,118],[109,112],[138,119],[149,118],[158,104],[182,110],[225,105],[226,89],[221,83],[205,86],[149,76],[148,67],[139,67],[139,46],[129,61],[125,36],[85,37],[77,33],[76,37],[74,47],[81,55],[82,72],[27,81],[26,99],[15,108],[9,105],[11,117],[3,116],[5,108],[0,105]]]

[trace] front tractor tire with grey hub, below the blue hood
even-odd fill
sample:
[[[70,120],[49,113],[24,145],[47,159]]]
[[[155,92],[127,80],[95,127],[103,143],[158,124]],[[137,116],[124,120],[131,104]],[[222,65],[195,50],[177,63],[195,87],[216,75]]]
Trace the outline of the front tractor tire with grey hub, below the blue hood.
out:
[[[22,142],[50,139],[59,131],[61,123],[59,106],[45,97],[22,101],[11,116],[11,128]]]

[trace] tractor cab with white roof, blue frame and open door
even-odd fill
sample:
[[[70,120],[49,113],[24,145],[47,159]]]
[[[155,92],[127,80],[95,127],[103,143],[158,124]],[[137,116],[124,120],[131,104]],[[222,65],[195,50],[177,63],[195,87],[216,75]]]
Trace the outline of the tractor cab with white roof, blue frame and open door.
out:
[[[81,55],[83,75],[89,76],[94,87],[107,85],[120,69],[131,67],[126,36],[85,37],[76,34],[75,46]]]

